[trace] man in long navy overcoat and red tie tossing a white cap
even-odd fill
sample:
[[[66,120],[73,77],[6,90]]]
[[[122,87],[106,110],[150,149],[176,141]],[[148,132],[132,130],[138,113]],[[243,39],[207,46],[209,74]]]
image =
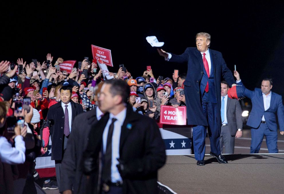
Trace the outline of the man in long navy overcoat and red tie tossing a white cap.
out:
[[[198,166],[203,166],[205,137],[208,126],[210,155],[219,163],[228,163],[220,152],[221,132],[221,76],[234,86],[232,72],[228,69],[222,54],[209,49],[211,36],[208,33],[196,34],[196,48],[188,47],[181,55],[158,52],[169,62],[187,62],[188,70],[184,81],[188,124],[193,127],[194,156]],[[218,94],[218,95],[216,95]]]

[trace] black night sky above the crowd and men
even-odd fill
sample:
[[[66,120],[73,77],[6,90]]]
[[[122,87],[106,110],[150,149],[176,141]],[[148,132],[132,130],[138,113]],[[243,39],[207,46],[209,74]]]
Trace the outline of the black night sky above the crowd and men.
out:
[[[141,1],[142,2],[142,1]],[[139,3],[139,4],[137,4]],[[234,64],[247,88],[273,78],[273,91],[284,96],[283,1],[161,1],[126,4],[111,1],[80,3],[42,1],[1,6],[0,60],[32,58],[82,61],[92,58],[91,44],[112,51],[114,68],[123,63],[134,78],[151,65],[155,77],[171,76],[186,65],[167,63],[146,41],[149,35],[165,42],[163,50],[182,54],[195,47],[198,32],[211,34],[213,50]],[[76,64],[77,65],[77,64]]]

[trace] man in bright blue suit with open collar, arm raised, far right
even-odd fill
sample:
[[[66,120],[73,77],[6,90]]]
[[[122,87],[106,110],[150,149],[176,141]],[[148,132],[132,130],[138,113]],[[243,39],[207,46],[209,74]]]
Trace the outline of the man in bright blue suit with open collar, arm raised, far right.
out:
[[[282,96],[272,92],[271,79],[265,78],[261,82],[261,89],[248,90],[241,82],[240,75],[235,71],[239,85],[242,85],[243,94],[251,99],[253,108],[249,114],[247,125],[251,127],[251,153],[258,153],[266,137],[266,145],[269,153],[278,153],[277,149],[277,124],[276,114],[280,127],[280,134],[284,135],[284,108]]]

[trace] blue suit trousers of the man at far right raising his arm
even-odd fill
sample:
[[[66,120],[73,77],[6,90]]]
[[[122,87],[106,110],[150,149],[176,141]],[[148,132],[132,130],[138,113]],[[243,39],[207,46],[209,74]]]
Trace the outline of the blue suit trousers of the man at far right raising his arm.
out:
[[[263,136],[266,137],[268,152],[278,153],[277,131],[271,131],[266,123],[261,123],[259,128],[251,128],[251,154],[259,152]]]

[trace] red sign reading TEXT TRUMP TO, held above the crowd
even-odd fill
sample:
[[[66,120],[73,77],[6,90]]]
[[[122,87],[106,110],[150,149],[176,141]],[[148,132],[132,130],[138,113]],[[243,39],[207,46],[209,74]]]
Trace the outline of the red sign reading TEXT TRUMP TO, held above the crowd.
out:
[[[93,59],[102,61],[103,64],[113,67],[113,59],[111,58],[111,50],[91,45]]]

